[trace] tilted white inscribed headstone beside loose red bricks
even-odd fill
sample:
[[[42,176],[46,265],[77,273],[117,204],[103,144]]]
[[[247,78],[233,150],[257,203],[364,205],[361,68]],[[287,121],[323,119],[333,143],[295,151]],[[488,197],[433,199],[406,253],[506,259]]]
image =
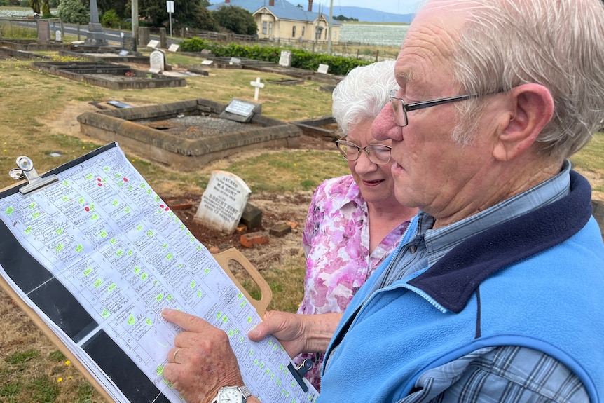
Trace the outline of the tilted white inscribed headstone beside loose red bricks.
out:
[[[252,191],[231,172],[213,171],[193,221],[234,233]]]

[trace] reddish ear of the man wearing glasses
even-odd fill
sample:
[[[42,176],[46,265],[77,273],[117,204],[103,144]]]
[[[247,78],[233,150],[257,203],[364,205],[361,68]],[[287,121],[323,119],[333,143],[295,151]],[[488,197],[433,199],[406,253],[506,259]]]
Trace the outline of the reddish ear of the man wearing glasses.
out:
[[[512,160],[529,149],[554,116],[554,98],[540,84],[514,87],[509,96],[509,121],[504,123],[493,149],[495,159],[502,161]]]

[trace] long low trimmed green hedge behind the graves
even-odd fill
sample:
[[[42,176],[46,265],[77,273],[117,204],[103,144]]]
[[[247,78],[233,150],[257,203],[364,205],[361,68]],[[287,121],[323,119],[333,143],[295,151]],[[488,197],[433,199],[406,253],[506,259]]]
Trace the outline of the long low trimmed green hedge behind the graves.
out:
[[[278,63],[281,57],[281,50],[291,51],[291,67],[317,71],[319,64],[328,64],[329,73],[338,76],[345,76],[348,72],[357,66],[371,64],[364,60],[350,59],[348,57],[339,57],[323,55],[320,53],[307,52],[299,49],[269,48],[266,46],[243,46],[238,43],[228,43],[221,46],[217,42],[206,41],[205,39],[193,38],[185,39],[180,44],[183,52],[200,52],[203,49],[211,50],[212,54],[218,57],[247,57],[254,60],[265,60]]]

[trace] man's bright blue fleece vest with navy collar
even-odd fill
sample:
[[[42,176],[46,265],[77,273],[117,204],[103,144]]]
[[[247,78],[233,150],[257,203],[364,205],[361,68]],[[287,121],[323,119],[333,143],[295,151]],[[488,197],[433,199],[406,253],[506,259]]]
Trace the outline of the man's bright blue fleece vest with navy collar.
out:
[[[397,402],[427,369],[484,346],[556,357],[592,403],[602,402],[604,246],[590,199],[589,183],[571,172],[565,198],[474,235],[430,269],[367,295],[406,250],[408,231],[345,310],[318,402]]]

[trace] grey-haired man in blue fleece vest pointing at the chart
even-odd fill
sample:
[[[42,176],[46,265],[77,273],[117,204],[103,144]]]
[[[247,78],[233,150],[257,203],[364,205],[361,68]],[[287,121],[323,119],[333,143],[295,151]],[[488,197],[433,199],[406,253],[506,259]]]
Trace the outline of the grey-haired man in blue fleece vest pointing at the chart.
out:
[[[269,313],[249,335],[325,350],[319,401],[603,401],[604,247],[567,160],[603,121],[603,22],[599,0],[418,13],[373,136],[420,214],[337,326]],[[242,385],[224,334],[164,316],[185,329],[165,376],[188,402]]]

